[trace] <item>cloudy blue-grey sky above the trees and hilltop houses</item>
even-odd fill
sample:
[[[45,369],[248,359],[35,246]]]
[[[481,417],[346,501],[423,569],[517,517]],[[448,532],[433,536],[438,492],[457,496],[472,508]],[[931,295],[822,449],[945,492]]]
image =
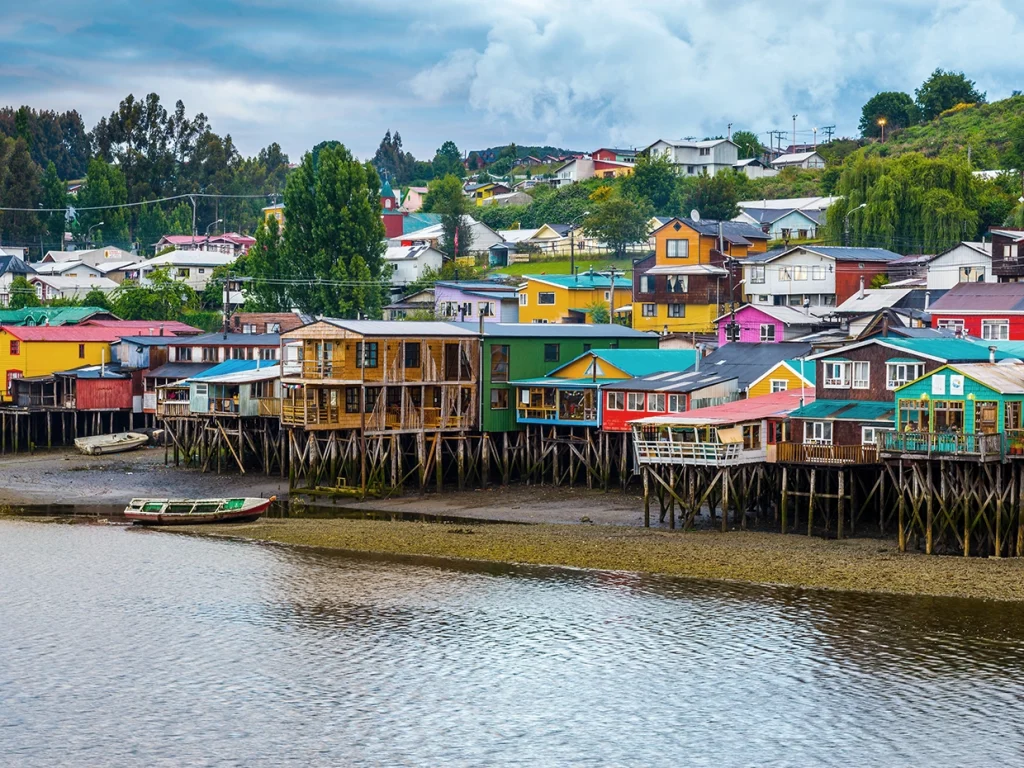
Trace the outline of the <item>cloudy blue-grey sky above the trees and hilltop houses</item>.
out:
[[[182,99],[246,154],[388,128],[430,157],[514,140],[589,150],[812,127],[965,71],[1024,85],[1021,0],[4,0],[0,104]]]

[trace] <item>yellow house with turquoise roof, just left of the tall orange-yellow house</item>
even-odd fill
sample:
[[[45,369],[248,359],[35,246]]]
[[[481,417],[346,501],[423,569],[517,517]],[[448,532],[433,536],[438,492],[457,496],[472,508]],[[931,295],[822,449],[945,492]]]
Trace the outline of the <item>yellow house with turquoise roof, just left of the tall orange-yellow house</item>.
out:
[[[523,280],[516,290],[520,323],[590,323],[596,305],[612,310],[611,279],[603,274],[524,274]],[[628,280],[615,281],[614,307],[629,306],[631,296]]]

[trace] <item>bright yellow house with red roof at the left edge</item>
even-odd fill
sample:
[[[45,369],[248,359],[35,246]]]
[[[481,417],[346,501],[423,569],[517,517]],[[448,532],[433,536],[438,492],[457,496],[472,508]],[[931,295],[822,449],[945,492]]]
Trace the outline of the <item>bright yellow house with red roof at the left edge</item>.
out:
[[[111,342],[123,333],[95,326],[0,328],[0,400],[10,400],[14,379],[110,362]]]

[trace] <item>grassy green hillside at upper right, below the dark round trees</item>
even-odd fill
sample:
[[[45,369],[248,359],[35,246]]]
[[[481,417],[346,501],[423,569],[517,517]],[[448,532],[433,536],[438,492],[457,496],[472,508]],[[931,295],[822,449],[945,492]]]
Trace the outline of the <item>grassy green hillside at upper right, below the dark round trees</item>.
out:
[[[896,157],[910,152],[937,157],[967,156],[971,146],[971,165],[976,169],[1004,168],[1009,164],[1010,133],[1024,120],[1024,96],[1012,96],[990,104],[976,104],[950,111],[930,123],[895,131],[885,144],[871,143],[865,155]]]

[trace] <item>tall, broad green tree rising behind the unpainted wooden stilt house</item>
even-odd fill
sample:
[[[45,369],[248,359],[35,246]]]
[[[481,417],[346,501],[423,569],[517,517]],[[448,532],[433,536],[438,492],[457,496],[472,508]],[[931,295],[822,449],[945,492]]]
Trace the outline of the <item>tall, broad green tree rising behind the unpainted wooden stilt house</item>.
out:
[[[298,281],[291,301],[308,312],[380,316],[385,245],[373,165],[359,163],[342,144],[322,147],[315,164],[307,154],[288,177],[285,207],[283,260],[289,278]],[[353,274],[353,261],[359,274]]]

